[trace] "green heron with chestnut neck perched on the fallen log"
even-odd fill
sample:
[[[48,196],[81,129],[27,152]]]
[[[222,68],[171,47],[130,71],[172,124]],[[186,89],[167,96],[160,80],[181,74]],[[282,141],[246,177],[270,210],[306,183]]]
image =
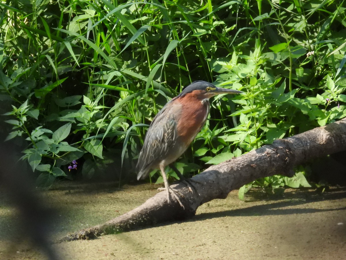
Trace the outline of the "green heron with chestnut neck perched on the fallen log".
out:
[[[183,207],[176,190],[168,184],[165,167],[178,159],[203,127],[209,114],[209,98],[218,94],[239,94],[239,90],[216,87],[206,81],[194,81],[169,101],[155,116],[144,139],[136,170],[137,180],[160,169],[170,202],[170,192]],[[171,166],[182,179],[182,174]],[[189,188],[191,190],[191,188]]]

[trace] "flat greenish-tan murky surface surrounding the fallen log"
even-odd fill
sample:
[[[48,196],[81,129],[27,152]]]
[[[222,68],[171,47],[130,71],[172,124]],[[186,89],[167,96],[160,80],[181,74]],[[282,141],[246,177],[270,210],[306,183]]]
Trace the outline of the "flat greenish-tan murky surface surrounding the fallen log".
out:
[[[58,210],[54,236],[100,224],[142,204],[156,185],[63,181],[43,192]],[[0,193],[0,259],[46,259],[19,233],[16,210]],[[12,240],[10,240],[12,237]],[[20,236],[22,237],[22,236]],[[15,241],[15,242],[13,242]],[[281,198],[237,191],[198,208],[185,222],[166,223],[90,241],[53,244],[60,259],[346,259],[346,188],[317,194],[286,190]]]

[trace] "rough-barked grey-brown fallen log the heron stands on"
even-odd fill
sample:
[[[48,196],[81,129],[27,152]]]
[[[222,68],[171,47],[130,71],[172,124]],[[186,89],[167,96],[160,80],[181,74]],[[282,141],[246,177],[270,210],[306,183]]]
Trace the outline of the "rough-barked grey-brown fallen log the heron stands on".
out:
[[[313,158],[346,150],[346,118],[292,137],[279,139],[243,156],[209,167],[194,176],[193,193],[182,183],[179,190],[184,209],[177,201],[168,204],[166,192],[157,193],[143,205],[104,224],[69,234],[61,241],[92,239],[103,234],[129,231],[195,215],[197,208],[213,199],[224,199],[231,190],[258,178],[282,174],[293,176],[293,167]]]

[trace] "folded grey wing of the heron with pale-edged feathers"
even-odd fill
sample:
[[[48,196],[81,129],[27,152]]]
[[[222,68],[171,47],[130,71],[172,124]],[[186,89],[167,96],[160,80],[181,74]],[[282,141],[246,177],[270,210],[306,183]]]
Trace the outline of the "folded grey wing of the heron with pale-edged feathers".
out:
[[[174,109],[168,104],[155,116],[140,151],[136,170],[137,180],[144,179],[154,167],[166,158],[176,140]]]

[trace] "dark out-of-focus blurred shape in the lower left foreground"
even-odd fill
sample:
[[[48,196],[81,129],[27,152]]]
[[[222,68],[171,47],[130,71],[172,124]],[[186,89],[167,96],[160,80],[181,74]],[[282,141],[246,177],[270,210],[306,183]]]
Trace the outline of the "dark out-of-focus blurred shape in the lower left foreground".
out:
[[[18,161],[20,154],[16,151],[16,146],[10,141],[4,142],[4,139],[0,134],[0,189],[9,197],[11,205],[18,209],[19,217],[14,221],[20,222],[19,230],[22,231],[10,234],[9,237],[13,237],[12,243],[16,243],[18,239],[19,243],[29,239],[47,259],[58,259],[49,237],[54,220],[53,211],[44,206],[42,198],[34,190],[26,166]]]

